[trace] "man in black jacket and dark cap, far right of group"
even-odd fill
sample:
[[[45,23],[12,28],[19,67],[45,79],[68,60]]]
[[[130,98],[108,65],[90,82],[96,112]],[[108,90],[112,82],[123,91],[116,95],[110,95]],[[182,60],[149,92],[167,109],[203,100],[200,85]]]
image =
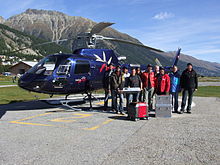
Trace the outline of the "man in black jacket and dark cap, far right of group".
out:
[[[188,105],[186,108],[187,113],[191,113],[191,104],[194,91],[198,89],[198,76],[191,63],[187,64],[187,68],[183,71],[180,77],[180,85],[182,88],[182,104],[180,113],[183,113],[186,106],[187,94]]]

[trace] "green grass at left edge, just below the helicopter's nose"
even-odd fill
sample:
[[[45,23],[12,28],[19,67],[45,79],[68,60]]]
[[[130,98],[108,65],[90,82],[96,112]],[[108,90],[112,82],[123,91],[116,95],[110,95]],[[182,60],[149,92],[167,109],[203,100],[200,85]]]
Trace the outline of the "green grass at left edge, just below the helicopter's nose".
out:
[[[49,98],[49,95],[28,92],[19,87],[0,88],[0,104],[8,104],[13,102],[30,101],[45,98]]]

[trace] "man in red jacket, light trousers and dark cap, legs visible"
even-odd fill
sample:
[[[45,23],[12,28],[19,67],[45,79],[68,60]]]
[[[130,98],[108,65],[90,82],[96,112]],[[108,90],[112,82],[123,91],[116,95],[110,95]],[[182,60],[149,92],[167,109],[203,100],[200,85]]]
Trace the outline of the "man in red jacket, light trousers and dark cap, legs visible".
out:
[[[155,75],[152,68],[153,66],[148,64],[147,70],[141,74],[141,80],[143,83],[143,101],[148,102],[149,111],[152,110],[155,89]]]

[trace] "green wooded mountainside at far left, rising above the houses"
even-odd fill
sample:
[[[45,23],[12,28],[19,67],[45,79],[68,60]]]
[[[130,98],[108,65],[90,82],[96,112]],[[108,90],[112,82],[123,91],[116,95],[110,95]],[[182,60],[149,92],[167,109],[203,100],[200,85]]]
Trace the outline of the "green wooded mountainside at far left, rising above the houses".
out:
[[[6,25],[0,24],[0,55],[6,55],[8,57],[6,59],[12,59],[11,57],[14,56],[20,59],[33,60],[41,59],[47,54],[58,53],[60,51],[70,52],[69,49],[54,43],[38,47],[32,46],[45,41],[46,40],[30,36]],[[24,47],[28,47],[28,49],[10,53]]]

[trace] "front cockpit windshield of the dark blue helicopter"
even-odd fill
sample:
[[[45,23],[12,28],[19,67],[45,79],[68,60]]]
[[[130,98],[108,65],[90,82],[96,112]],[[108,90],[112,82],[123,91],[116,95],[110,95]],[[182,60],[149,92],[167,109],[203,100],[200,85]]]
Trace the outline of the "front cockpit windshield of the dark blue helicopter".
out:
[[[31,68],[28,73],[32,74],[44,74],[51,75],[55,69],[57,58],[55,56],[49,56],[43,58],[38,62],[33,68]]]

